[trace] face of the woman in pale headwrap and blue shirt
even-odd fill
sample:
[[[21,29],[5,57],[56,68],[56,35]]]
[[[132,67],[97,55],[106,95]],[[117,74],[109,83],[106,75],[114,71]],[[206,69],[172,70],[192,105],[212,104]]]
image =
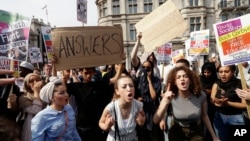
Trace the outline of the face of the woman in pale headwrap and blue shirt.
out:
[[[69,103],[69,94],[67,93],[66,86],[64,84],[56,86],[52,98],[52,105],[54,104],[57,107],[63,107],[68,103]]]

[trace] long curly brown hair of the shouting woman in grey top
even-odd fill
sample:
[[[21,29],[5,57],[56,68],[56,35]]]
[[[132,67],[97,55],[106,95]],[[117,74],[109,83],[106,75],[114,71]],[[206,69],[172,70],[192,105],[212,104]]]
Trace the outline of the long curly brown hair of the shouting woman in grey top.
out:
[[[167,84],[170,84],[170,90],[175,94],[175,96],[178,94],[178,87],[176,85],[176,74],[178,71],[181,70],[186,72],[190,80],[189,91],[197,97],[200,96],[202,87],[199,77],[188,67],[184,66],[175,67],[169,72]]]

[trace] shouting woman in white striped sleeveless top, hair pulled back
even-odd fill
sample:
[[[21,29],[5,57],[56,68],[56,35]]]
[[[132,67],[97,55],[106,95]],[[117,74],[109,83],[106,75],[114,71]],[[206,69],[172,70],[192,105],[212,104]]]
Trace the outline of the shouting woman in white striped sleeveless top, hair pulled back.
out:
[[[104,109],[99,126],[109,131],[107,141],[137,141],[136,124],[145,122],[143,104],[134,99],[135,87],[130,76],[121,76],[114,84],[114,101]]]

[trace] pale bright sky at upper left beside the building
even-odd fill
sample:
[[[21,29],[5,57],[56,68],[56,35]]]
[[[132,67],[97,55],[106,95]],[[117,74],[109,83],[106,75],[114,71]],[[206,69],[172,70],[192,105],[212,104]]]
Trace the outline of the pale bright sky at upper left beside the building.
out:
[[[46,9],[47,5],[48,18]],[[0,10],[19,13],[27,17],[43,19],[44,23],[56,27],[82,26],[77,21],[76,0],[0,0]],[[97,25],[97,7],[95,0],[88,0],[87,24],[84,26]]]

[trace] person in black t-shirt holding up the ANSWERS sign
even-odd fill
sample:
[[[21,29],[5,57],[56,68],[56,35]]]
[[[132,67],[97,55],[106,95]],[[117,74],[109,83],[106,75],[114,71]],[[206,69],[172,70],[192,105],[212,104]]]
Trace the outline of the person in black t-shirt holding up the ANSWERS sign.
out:
[[[77,131],[85,141],[105,141],[107,133],[103,132],[98,121],[105,106],[110,102],[107,88],[113,84],[121,74],[121,65],[115,76],[107,80],[93,81],[95,68],[83,68],[83,82],[67,84],[68,93],[75,97]]]

